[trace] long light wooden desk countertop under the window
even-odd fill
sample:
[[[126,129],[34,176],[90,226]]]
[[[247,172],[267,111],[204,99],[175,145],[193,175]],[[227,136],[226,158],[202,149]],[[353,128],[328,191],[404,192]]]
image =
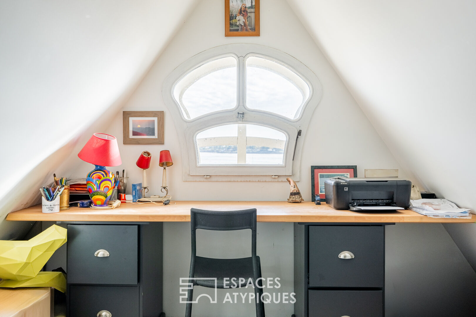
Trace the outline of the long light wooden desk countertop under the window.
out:
[[[385,212],[357,212],[335,210],[314,202],[208,202],[179,201],[176,205],[158,206],[152,203],[92,209],[71,207],[57,213],[42,213],[41,205],[10,212],[7,220],[17,221],[190,221],[190,208],[209,210],[257,209],[262,222],[476,222],[476,219],[430,218],[411,210]]]

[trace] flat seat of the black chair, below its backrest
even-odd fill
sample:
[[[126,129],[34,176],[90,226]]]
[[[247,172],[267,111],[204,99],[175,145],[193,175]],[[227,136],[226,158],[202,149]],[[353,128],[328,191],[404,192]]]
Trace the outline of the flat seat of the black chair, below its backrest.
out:
[[[260,259],[258,258],[258,277],[261,277]],[[224,278],[228,278],[227,287],[234,286],[231,281],[236,279],[237,287],[245,287],[248,279],[253,278],[253,260],[249,258],[241,259],[212,259],[196,257],[195,259],[195,274],[194,278],[197,280],[195,284],[198,286],[215,288],[214,279],[200,279],[200,278],[217,278],[217,288],[224,288]],[[244,278],[244,283],[239,283],[239,278]]]

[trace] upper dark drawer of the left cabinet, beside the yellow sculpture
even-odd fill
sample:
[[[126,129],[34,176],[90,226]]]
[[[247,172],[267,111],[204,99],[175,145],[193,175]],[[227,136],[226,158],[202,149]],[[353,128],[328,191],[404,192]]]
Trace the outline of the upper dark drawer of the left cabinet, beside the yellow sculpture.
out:
[[[138,232],[137,225],[68,225],[68,284],[137,284]]]

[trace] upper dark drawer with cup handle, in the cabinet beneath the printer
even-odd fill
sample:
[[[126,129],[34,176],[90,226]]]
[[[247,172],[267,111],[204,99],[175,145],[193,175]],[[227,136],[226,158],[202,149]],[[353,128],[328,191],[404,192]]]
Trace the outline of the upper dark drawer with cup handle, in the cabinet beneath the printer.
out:
[[[384,234],[382,226],[309,226],[309,287],[383,287]],[[344,251],[354,258],[339,258]]]

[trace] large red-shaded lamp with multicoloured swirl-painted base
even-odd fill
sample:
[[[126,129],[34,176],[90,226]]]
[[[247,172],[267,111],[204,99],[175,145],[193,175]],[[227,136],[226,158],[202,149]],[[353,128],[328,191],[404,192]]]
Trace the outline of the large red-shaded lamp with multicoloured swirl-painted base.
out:
[[[93,205],[107,206],[116,179],[106,166],[122,164],[116,138],[105,133],[95,133],[79,151],[78,157],[95,165],[94,170],[86,176],[86,186]]]

